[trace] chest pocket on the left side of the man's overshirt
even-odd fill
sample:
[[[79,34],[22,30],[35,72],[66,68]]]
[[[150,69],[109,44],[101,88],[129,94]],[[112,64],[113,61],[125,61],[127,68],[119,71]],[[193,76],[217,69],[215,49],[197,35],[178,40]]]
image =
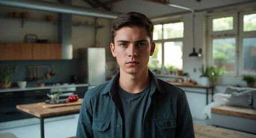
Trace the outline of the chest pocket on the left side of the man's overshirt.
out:
[[[108,137],[110,121],[108,120],[92,120],[92,129],[94,131],[94,137]]]

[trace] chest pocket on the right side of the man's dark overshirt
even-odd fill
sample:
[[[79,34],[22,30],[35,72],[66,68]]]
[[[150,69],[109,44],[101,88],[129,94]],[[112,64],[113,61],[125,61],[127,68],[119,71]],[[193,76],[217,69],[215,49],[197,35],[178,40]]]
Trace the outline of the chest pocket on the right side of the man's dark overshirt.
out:
[[[155,120],[157,137],[175,137],[176,118]]]

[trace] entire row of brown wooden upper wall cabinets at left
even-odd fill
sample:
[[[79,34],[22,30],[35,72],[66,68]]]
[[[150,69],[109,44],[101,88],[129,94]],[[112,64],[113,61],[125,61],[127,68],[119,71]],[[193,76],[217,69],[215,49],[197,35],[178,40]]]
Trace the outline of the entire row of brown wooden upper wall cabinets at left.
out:
[[[61,44],[0,43],[0,60],[62,59]]]

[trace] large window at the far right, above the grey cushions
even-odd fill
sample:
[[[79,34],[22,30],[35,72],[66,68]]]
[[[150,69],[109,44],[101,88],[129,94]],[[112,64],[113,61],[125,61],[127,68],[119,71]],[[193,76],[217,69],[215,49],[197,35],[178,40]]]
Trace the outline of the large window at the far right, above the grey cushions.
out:
[[[227,75],[256,75],[256,11],[208,17],[209,64]]]

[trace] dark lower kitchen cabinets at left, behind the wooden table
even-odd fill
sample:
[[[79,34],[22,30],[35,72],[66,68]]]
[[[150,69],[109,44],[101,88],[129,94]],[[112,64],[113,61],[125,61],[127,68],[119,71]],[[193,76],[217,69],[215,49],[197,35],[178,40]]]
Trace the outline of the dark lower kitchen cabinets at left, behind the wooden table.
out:
[[[46,101],[47,93],[50,89],[0,93],[0,122],[31,118],[18,112],[16,105]]]

